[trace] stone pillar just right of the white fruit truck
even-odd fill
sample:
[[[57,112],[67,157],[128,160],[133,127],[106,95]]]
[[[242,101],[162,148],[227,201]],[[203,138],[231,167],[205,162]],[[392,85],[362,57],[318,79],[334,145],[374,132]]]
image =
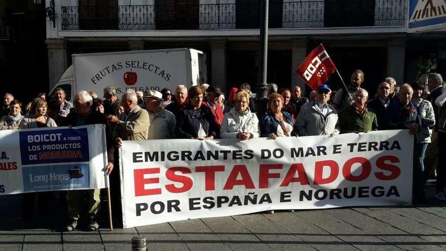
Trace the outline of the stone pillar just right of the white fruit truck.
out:
[[[220,87],[221,91],[228,93],[226,83],[226,40],[211,40],[211,83]]]

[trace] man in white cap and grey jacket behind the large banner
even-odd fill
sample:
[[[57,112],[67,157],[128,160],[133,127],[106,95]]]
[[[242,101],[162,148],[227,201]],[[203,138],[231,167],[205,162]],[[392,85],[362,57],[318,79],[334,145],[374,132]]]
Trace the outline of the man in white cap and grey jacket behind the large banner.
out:
[[[163,94],[159,91],[144,91],[145,109],[148,112],[150,125],[148,139],[167,139],[175,137],[176,119],[173,113],[161,107]]]

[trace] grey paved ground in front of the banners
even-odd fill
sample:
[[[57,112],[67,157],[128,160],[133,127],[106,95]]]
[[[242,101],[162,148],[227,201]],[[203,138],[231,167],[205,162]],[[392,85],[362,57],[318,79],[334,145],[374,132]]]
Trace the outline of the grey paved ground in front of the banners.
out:
[[[254,213],[113,232],[81,226],[69,233],[61,231],[57,199],[46,216],[27,222],[19,195],[0,196],[0,250],[131,250],[136,235],[147,238],[148,250],[446,250],[446,202],[434,199],[432,185],[426,190],[427,202],[414,206]]]

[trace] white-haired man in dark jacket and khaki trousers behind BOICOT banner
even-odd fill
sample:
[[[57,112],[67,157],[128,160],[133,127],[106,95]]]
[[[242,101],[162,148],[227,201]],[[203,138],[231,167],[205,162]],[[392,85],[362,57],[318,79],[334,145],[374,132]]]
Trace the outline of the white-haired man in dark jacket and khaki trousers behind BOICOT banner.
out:
[[[62,121],[64,126],[83,126],[93,124],[104,124],[106,129],[107,139],[107,152],[108,152],[108,164],[105,167],[107,175],[113,170],[113,144],[111,142],[111,136],[108,130],[108,123],[105,115],[91,109],[93,104],[92,96],[86,91],[80,91],[75,96],[74,107],[75,110],[70,112],[65,120]],[[100,190],[92,189],[87,191],[81,190],[69,190],[67,192],[67,205],[68,205],[68,223],[65,227],[67,231],[75,230],[78,225],[78,220],[82,212],[82,205],[84,198],[87,197],[88,204],[88,217],[89,225],[88,229],[95,231],[99,228],[98,224],[98,211],[100,208]]]

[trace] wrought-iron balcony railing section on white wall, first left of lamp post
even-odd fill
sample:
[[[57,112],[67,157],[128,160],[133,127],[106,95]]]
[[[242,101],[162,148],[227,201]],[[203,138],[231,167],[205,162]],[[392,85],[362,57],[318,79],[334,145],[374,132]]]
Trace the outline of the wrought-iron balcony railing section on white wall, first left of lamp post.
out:
[[[200,29],[235,29],[235,4],[200,5]]]

